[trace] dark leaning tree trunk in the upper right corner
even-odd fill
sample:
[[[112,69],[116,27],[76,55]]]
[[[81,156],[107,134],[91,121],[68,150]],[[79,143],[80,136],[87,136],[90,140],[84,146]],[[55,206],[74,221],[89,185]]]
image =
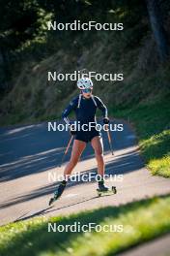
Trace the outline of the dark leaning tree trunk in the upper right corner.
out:
[[[158,0],[146,0],[148,13],[150,16],[151,27],[156,39],[156,46],[160,60],[163,62],[168,58],[169,46],[166,38],[166,33],[163,28],[162,18],[158,9]]]

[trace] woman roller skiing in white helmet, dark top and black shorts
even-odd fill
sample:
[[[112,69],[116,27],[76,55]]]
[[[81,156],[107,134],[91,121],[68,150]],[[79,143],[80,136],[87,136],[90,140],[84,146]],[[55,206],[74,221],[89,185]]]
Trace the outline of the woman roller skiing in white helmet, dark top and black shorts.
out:
[[[97,124],[96,120],[96,111],[97,108],[102,112],[103,115],[103,124],[109,123],[109,118],[107,116],[107,109],[99,97],[94,96],[92,94],[93,90],[93,82],[89,78],[82,78],[77,81],[77,87],[80,89],[80,94],[76,96],[67,107],[67,109],[63,112],[62,117],[66,124],[71,127],[70,120],[68,115],[74,111],[76,115],[76,121],[79,121],[80,127],[82,125],[89,125],[89,123]],[[87,143],[91,143],[94,150],[95,156],[98,163],[98,175],[99,175],[99,191],[106,192],[108,187],[104,185],[104,161],[103,161],[103,146],[102,146],[102,138],[99,131],[97,131],[95,125],[87,131],[86,129],[80,129],[77,131],[71,131],[71,135],[74,136],[74,141],[71,150],[71,160],[69,164],[66,166],[64,171],[65,179],[60,183],[57,191],[54,193],[54,198],[52,198],[49,202],[49,205],[52,204],[57,198],[59,198],[67,184],[68,176],[71,175],[71,171],[77,164],[83,150],[86,147]]]

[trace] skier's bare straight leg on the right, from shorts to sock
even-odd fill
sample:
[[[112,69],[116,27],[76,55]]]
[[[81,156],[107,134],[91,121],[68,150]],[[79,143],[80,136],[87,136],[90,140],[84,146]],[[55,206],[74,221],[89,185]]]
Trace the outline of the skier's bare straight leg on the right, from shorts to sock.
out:
[[[98,174],[100,176],[104,175],[104,160],[103,160],[103,146],[102,146],[102,139],[99,136],[93,138],[91,142],[94,150],[95,155],[98,163]]]

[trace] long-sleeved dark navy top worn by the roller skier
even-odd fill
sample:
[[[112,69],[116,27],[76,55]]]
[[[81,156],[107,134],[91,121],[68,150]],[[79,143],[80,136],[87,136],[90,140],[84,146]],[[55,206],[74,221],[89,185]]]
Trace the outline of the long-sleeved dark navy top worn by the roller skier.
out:
[[[99,97],[92,95],[87,99],[84,98],[82,94],[79,94],[70,102],[70,105],[62,113],[62,118],[67,124],[70,124],[68,115],[71,111],[74,111],[76,115],[76,121],[80,121],[81,124],[97,122],[97,108],[99,108],[99,110],[102,112],[103,117],[107,117],[107,108],[99,99]]]

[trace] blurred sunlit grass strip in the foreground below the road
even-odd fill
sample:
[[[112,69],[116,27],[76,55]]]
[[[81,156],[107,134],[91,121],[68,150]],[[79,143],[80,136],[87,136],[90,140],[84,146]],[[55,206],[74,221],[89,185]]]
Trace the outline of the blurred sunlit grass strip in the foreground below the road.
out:
[[[123,225],[123,232],[47,232],[48,223]],[[1,256],[115,255],[170,231],[170,195],[68,217],[42,217],[0,227]]]

